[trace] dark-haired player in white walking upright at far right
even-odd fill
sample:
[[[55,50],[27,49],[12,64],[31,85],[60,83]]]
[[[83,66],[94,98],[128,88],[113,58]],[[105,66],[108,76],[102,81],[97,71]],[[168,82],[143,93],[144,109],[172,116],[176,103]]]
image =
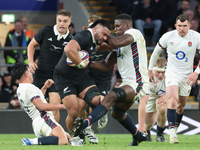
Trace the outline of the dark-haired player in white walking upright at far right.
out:
[[[166,94],[169,98],[167,120],[170,131],[170,143],[179,143],[177,128],[183,116],[184,106],[190,94],[191,86],[200,73],[199,66],[193,72],[196,50],[200,48],[200,34],[190,30],[189,18],[181,14],[176,18],[176,30],[165,33],[156,45],[149,64],[149,80],[154,80],[153,65],[162,50],[167,50],[168,62],[165,73]]]

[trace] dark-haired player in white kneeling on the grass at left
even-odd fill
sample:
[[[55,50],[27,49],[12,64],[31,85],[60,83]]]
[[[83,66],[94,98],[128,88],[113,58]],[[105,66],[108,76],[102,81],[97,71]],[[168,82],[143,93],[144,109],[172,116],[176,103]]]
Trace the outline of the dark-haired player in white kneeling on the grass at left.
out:
[[[21,139],[22,145],[71,145],[82,146],[77,138],[71,138],[54,119],[52,110],[65,109],[63,104],[49,104],[44,98],[46,90],[54,83],[48,79],[41,90],[33,85],[33,77],[28,65],[18,62],[12,67],[12,76],[19,80],[18,99],[25,112],[32,119],[32,127],[37,138]]]

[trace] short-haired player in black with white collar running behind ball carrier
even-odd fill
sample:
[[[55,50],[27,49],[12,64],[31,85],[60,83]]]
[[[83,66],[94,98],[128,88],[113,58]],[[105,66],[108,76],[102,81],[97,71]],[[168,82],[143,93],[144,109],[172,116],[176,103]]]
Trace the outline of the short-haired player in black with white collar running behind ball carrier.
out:
[[[62,56],[64,47],[72,39],[69,33],[71,13],[59,10],[56,15],[56,25],[45,26],[39,30],[28,45],[29,68],[33,73],[33,84],[41,88],[47,79],[53,79],[53,71]],[[35,47],[40,46],[38,63],[34,62]],[[61,103],[60,96],[53,84],[47,91],[51,104]],[[60,120],[59,110],[53,111],[57,122]]]

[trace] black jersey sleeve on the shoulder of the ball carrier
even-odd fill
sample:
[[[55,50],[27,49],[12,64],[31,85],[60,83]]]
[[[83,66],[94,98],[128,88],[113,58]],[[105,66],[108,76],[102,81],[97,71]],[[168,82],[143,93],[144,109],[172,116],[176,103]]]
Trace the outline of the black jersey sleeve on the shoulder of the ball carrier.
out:
[[[90,34],[89,31],[81,31],[77,33],[74,37],[73,40],[76,40],[81,47],[82,50],[84,50],[85,47],[88,46],[88,43],[91,41],[92,35]]]

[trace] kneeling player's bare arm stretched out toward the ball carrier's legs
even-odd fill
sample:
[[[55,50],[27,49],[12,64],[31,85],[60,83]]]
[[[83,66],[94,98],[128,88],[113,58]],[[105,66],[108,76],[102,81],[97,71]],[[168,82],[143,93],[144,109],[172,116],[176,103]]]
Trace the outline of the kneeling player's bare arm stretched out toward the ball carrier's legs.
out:
[[[36,98],[32,101],[32,103],[40,110],[40,111],[53,111],[59,109],[65,109],[64,104],[50,104],[43,103],[41,98]]]

